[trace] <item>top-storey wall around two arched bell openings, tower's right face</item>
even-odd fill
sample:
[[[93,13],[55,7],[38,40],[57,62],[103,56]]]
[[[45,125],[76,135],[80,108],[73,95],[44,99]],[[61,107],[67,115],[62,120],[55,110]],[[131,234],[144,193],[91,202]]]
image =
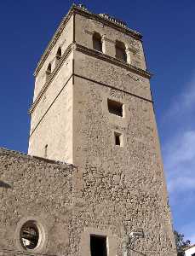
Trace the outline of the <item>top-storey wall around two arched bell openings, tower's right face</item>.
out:
[[[141,41],[131,38],[123,32],[106,26],[100,21],[92,20],[82,15],[75,17],[75,38],[77,44],[81,44],[89,49],[93,49],[92,33],[99,32],[106,37],[106,55],[115,57],[116,40],[123,42],[130,50],[131,64],[141,69],[146,69],[145,57],[143,54]]]

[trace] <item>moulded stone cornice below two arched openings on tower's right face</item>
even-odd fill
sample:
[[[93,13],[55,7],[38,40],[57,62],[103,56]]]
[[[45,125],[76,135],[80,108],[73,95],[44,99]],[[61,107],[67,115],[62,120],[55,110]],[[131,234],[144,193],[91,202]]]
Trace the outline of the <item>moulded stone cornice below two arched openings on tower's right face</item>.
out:
[[[148,71],[143,70],[143,69],[141,69],[139,67],[135,67],[135,66],[130,65],[130,64],[124,62],[124,61],[120,61],[120,60],[118,60],[118,59],[116,59],[116,58],[114,58],[114,57],[112,57],[110,55],[105,55],[102,52],[99,52],[99,51],[97,51],[95,49],[89,49],[89,48],[87,48],[87,47],[85,47],[83,45],[80,45],[80,44],[75,44],[75,46],[76,46],[75,49],[77,51],[83,52],[86,55],[95,56],[96,58],[99,58],[99,59],[101,59],[103,61],[108,61],[108,62],[110,62],[110,63],[112,63],[112,64],[114,64],[116,66],[123,67],[123,68],[125,68],[125,69],[127,69],[129,71],[137,73],[137,74],[145,77],[146,79],[151,79],[152,78],[152,73],[149,73]]]

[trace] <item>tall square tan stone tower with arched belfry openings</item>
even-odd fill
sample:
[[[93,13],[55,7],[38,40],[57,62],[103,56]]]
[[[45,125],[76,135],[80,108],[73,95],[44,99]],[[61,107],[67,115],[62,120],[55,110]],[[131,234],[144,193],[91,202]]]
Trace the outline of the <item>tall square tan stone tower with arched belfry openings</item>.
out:
[[[35,71],[28,154],[78,166],[70,255],[176,255],[141,38],[73,5]]]

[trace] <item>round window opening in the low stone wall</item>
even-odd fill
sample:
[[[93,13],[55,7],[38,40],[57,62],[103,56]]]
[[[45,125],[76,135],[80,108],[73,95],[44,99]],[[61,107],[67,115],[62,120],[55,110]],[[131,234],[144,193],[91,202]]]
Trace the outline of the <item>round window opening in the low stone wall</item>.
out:
[[[40,232],[35,221],[27,221],[20,230],[20,243],[22,247],[32,250],[38,246]]]

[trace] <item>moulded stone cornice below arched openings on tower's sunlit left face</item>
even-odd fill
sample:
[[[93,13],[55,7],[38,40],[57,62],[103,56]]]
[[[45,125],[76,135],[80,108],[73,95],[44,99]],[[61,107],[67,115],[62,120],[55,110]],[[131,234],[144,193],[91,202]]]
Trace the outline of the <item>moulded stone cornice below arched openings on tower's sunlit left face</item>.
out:
[[[72,52],[72,48],[74,47],[74,44],[70,44],[66,51],[64,52],[64,54],[61,56],[60,61],[58,63],[58,65],[54,68],[54,71],[51,73],[51,76],[49,77],[49,80],[43,85],[43,88],[40,90],[39,94],[37,95],[37,98],[35,99],[35,101],[32,103],[31,108],[29,108],[28,113],[32,114],[33,110],[36,108],[38,102],[40,102],[44,92],[46,90],[48,90],[49,85],[51,84],[51,82],[54,80],[55,75],[58,73],[60,67],[62,66],[62,64],[66,61],[68,55],[70,55],[70,53]]]

